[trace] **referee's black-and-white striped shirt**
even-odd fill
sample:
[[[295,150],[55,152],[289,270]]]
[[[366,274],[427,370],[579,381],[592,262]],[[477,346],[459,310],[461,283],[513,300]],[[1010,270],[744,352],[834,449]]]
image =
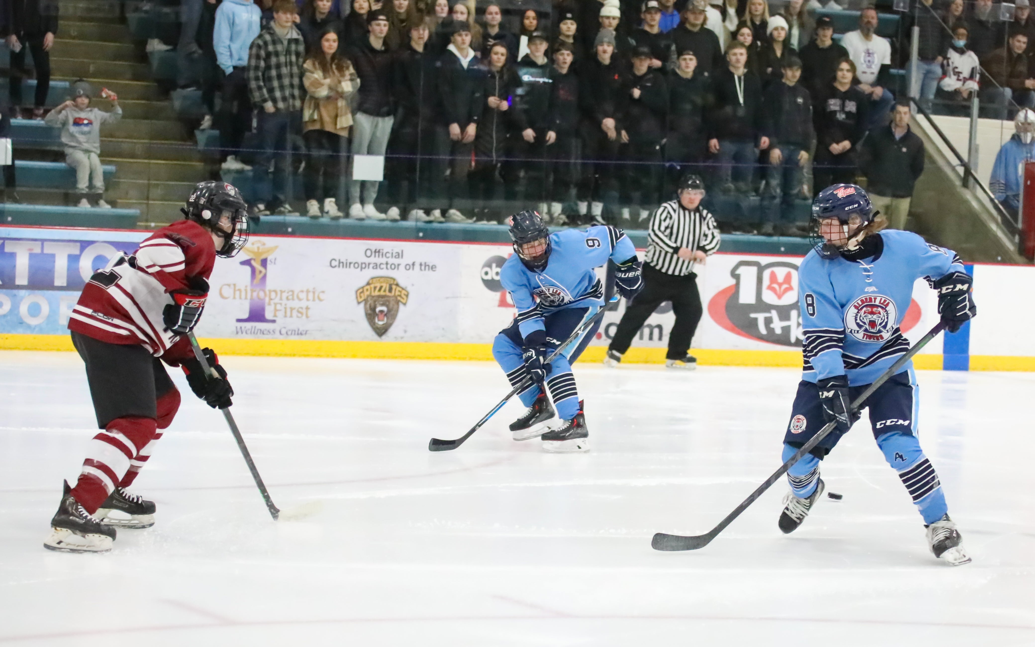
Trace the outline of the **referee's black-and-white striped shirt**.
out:
[[[647,237],[650,238],[647,263],[676,276],[690,273],[690,261],[676,255],[680,247],[701,249],[711,256],[719,245],[718,227],[712,214],[700,206],[691,211],[678,200],[667,202],[654,211]]]

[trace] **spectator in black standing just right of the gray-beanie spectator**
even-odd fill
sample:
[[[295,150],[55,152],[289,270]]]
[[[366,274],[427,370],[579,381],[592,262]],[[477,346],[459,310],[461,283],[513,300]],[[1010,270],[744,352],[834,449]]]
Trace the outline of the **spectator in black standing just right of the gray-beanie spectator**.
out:
[[[650,48],[632,50],[632,73],[623,79],[626,95],[621,140],[626,164],[622,225],[646,227],[651,209],[660,202],[661,142],[669,121],[669,88],[660,71],[650,66]]]

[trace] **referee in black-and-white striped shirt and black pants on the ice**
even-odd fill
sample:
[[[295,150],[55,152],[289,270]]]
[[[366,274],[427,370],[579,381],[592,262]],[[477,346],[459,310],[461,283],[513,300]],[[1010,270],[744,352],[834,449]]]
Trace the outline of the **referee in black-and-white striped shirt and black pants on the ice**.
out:
[[[669,300],[676,323],[669,332],[664,365],[670,369],[696,369],[698,365],[698,360],[689,354],[690,340],[704,311],[693,264],[704,263],[718,249],[719,233],[715,218],[700,206],[705,197],[705,184],[700,177],[683,177],[677,194],[678,200],[662,204],[651,216],[650,245],[643,266],[644,288],[631,303],[626,304],[603,360],[609,366],[617,366],[622,361],[633,335],[657,306]]]

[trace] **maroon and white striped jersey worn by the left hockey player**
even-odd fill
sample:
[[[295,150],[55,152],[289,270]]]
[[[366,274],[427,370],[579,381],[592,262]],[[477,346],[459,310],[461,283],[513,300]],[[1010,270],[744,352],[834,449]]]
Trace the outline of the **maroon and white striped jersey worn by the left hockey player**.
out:
[[[169,293],[189,289],[196,276],[208,281],[214,264],[208,230],[194,220],[164,227],[131,256],[116,256],[93,273],[68,328],[109,344],[140,344],[161,356],[182,336],[162,321],[162,311],[173,303]]]

